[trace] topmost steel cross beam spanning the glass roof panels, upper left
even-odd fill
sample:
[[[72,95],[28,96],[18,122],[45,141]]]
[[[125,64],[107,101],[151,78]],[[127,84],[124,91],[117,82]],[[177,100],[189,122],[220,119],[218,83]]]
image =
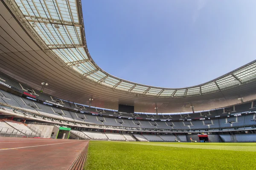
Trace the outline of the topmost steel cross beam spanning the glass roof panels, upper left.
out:
[[[24,15],[23,18],[24,21],[28,21],[29,23],[48,23],[48,24],[56,24],[56,25],[66,25],[66,26],[78,26],[82,27],[81,24],[79,23],[72,23],[71,21],[61,21],[59,19],[52,19],[48,20],[46,17],[35,17],[35,16],[29,16],[29,15]]]

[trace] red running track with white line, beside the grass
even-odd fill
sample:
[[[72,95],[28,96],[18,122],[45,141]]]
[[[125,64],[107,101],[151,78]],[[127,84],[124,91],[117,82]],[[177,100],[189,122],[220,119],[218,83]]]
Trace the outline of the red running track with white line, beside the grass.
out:
[[[0,170],[67,170],[88,142],[0,137]]]

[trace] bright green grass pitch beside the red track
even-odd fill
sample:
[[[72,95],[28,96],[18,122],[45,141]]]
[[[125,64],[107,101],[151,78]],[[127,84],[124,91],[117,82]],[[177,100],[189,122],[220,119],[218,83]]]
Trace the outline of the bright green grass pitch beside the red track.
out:
[[[85,170],[256,170],[256,143],[90,141]]]

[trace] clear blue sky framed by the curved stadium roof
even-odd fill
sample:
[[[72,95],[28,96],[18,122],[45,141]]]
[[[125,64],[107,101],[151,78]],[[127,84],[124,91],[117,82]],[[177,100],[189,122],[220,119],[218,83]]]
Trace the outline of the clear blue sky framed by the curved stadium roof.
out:
[[[152,86],[215,79],[256,59],[256,0],[82,0],[103,70]]]

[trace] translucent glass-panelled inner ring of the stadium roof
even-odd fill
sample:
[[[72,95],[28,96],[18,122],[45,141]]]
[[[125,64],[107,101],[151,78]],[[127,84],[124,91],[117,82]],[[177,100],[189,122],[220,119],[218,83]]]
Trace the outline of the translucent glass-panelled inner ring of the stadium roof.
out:
[[[126,81],[102,70],[90,56],[84,33],[84,24],[90,23],[83,19],[81,0],[6,0],[5,6],[40,50],[54,56],[62,68],[101,88],[135,97],[175,99],[223,92],[256,80],[256,61],[252,61],[212,81],[186,88],[161,88]]]

